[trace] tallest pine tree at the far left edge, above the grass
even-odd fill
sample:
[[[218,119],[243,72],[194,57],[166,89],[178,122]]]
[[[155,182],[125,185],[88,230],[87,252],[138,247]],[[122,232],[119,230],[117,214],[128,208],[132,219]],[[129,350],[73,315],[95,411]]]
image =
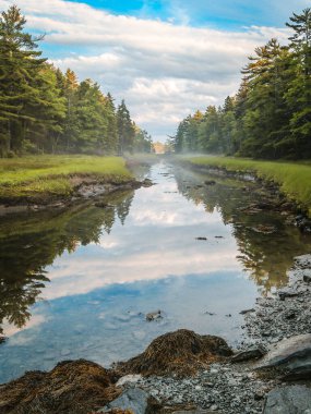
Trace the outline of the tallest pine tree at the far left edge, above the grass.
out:
[[[1,153],[19,151],[29,123],[32,107],[40,105],[36,81],[46,59],[36,51],[40,38],[24,33],[25,17],[12,5],[0,16],[0,139]]]

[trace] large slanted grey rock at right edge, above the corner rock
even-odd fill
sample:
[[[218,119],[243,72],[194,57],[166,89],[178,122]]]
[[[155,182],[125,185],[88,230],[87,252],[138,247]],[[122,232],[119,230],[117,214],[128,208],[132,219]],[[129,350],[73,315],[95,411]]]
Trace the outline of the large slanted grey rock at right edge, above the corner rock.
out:
[[[299,373],[304,376],[306,369],[307,372],[310,369],[310,364],[311,333],[306,333],[278,342],[263,357],[258,369],[276,367],[288,376],[290,376],[291,373],[296,373],[295,375],[298,379]]]

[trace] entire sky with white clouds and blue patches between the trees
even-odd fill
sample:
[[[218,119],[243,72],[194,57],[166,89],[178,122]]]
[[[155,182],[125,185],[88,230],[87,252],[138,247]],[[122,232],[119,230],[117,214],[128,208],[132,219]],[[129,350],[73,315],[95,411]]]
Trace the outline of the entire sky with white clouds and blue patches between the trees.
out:
[[[132,119],[165,142],[196,109],[237,92],[256,46],[277,37],[311,0],[0,0],[16,4],[44,56],[121,99]]]

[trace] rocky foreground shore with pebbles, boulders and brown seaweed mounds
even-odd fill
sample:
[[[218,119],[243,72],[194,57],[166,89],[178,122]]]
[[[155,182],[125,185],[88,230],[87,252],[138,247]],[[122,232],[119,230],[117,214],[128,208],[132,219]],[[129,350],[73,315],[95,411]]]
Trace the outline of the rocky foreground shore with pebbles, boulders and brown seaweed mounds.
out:
[[[0,386],[2,414],[311,414],[311,255],[286,289],[242,312],[239,350],[189,330],[155,339],[111,369],[87,361]]]

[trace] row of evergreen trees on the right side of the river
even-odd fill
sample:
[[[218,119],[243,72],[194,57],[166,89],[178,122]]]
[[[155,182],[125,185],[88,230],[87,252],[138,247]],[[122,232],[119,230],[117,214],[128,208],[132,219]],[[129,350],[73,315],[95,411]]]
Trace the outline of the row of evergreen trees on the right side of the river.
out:
[[[286,25],[288,45],[272,38],[258,47],[235,96],[180,122],[170,139],[176,153],[311,158],[311,9]]]

